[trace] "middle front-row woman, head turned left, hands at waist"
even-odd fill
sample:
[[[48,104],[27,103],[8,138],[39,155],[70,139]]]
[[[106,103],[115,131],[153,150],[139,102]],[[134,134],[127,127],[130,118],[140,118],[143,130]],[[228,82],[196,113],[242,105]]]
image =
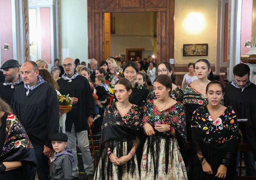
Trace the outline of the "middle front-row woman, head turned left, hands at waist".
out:
[[[142,125],[148,138],[143,147],[141,179],[185,180],[183,155],[186,149],[185,109],[171,98],[172,82],[168,75],[154,81],[156,100],[144,108]]]

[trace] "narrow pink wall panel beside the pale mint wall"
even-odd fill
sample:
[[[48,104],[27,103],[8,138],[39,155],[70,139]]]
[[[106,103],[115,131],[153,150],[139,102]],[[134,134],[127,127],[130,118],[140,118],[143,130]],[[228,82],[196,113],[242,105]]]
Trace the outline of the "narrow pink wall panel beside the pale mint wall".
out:
[[[41,59],[51,64],[50,7],[40,7]]]

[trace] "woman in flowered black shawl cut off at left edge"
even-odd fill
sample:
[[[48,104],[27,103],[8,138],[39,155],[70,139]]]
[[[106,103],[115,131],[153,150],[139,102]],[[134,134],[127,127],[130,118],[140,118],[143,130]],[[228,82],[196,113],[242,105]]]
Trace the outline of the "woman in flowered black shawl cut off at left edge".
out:
[[[0,98],[0,179],[35,179],[35,150],[20,121]]]

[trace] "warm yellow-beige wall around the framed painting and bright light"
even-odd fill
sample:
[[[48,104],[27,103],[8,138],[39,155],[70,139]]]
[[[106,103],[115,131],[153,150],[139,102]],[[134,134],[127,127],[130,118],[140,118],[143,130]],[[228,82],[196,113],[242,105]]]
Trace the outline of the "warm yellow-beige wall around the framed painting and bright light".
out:
[[[184,21],[191,12],[203,15],[205,26],[193,33],[192,28],[186,28]],[[193,20],[195,23],[197,19]],[[193,22],[191,21],[191,22]],[[217,37],[217,1],[179,0],[175,1],[175,32],[174,61],[175,64],[188,64],[198,59],[208,59],[215,63]],[[183,44],[208,44],[208,56],[183,56]]]

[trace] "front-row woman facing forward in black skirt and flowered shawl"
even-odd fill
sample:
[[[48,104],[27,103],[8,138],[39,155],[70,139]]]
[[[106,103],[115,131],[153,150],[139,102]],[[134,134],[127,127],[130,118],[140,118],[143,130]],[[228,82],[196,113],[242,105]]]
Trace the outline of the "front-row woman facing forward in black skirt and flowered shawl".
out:
[[[235,179],[238,152],[238,122],[231,107],[220,104],[224,87],[212,81],[206,87],[209,104],[192,116],[194,155],[190,178],[193,180]]]

